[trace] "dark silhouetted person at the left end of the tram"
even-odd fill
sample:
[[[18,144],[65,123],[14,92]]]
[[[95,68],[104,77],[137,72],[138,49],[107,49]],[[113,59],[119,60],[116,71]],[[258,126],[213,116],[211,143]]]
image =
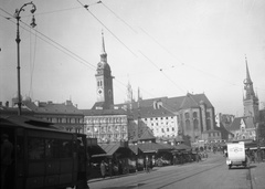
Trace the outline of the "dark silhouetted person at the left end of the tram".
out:
[[[4,189],[7,181],[6,174],[9,166],[12,164],[13,145],[9,141],[7,134],[1,135],[1,189]]]

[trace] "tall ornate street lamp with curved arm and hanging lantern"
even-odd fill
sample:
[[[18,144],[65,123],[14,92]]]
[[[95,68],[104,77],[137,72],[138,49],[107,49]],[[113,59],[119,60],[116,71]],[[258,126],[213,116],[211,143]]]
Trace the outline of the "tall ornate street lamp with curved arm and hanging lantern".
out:
[[[24,11],[24,7],[31,4],[32,6],[32,9],[31,9],[31,13],[33,14],[36,10],[36,7],[33,2],[28,2],[28,3],[24,3],[20,9],[15,9],[15,12],[14,12],[14,18],[17,19],[17,39],[15,39],[15,42],[18,43],[18,106],[19,106],[19,112],[18,112],[18,115],[20,116],[21,115],[21,94],[20,94],[20,32],[19,32],[19,22],[20,22],[20,12],[21,11]],[[35,24],[35,18],[34,15],[32,17],[32,23],[30,24],[32,28],[34,28],[36,24]]]

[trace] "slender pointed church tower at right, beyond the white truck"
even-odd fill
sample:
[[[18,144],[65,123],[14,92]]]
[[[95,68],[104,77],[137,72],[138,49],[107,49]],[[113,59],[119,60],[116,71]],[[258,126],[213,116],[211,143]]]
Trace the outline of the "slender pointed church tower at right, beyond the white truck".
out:
[[[255,92],[253,90],[253,82],[251,80],[248,66],[247,66],[247,60],[245,57],[246,63],[246,78],[244,80],[244,116],[250,116],[254,118],[254,122],[258,120],[258,98],[255,95]]]

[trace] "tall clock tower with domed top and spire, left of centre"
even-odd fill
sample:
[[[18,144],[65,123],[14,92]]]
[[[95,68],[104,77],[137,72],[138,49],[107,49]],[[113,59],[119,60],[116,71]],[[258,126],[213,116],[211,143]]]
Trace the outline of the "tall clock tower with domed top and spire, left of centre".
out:
[[[97,64],[96,70],[96,93],[97,93],[97,106],[104,109],[110,108],[114,105],[113,96],[113,76],[110,66],[107,63],[107,53],[105,51],[104,33],[102,32],[102,54],[100,62]]]

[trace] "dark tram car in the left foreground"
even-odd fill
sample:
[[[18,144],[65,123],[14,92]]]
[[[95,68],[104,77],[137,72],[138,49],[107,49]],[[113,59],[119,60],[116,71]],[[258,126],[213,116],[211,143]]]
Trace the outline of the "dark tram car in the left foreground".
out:
[[[84,134],[62,132],[52,123],[26,116],[0,117],[0,133],[1,188],[88,188]],[[4,138],[13,148],[11,161],[2,171]]]

